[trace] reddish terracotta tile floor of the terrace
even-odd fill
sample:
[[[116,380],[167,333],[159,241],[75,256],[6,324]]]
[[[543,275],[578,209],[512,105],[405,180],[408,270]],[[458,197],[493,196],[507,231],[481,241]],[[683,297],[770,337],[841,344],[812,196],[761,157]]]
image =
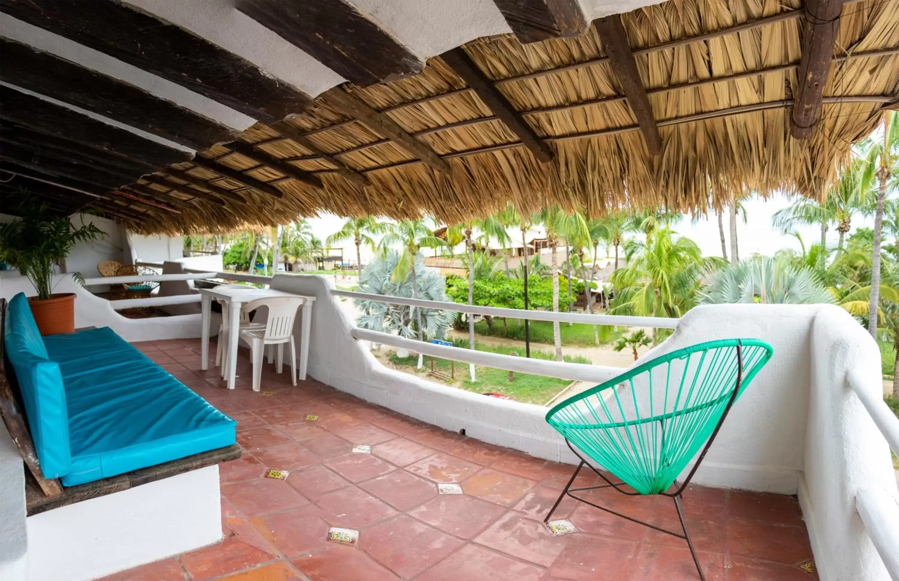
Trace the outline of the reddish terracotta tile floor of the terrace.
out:
[[[576,532],[549,533],[541,521],[571,466],[427,426],[313,380],[294,387],[273,365],[253,392],[241,360],[229,392],[215,368],[185,365],[185,351],[199,358],[199,339],[136,346],[237,420],[244,455],[220,467],[223,541],[108,580],[699,579],[684,541],[571,499],[554,518],[569,519]],[[353,445],[371,453],[352,453]],[[268,468],[289,477],[265,480]],[[437,483],[464,493],[438,494]],[[666,497],[591,494],[678,526]],[[817,578],[801,567],[811,550],[795,497],[692,487],[684,509],[710,581]],[[359,530],[358,546],[325,541],[330,526]]]

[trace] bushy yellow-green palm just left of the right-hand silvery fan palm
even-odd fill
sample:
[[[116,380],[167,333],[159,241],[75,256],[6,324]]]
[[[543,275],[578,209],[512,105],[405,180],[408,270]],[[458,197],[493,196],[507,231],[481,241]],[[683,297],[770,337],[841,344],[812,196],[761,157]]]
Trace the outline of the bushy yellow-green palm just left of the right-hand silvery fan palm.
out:
[[[675,240],[674,234],[665,227],[649,243],[628,242],[628,266],[611,277],[617,295],[610,313],[680,317],[693,306],[700,277],[722,266],[724,260],[703,258],[696,242],[684,237]]]

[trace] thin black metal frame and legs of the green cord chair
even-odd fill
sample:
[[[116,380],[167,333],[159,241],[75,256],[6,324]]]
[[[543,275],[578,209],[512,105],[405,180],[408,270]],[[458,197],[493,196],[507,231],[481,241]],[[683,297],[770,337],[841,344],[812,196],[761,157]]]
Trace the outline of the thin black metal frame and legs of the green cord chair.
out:
[[[696,569],[699,571],[699,578],[702,581],[706,581],[706,576],[702,572],[702,567],[699,565],[699,556],[697,556],[697,554],[696,554],[696,548],[693,546],[693,541],[690,539],[690,533],[687,531],[687,522],[684,519],[683,508],[681,507],[681,496],[683,495],[684,489],[686,489],[687,486],[690,484],[690,480],[693,479],[693,475],[696,474],[696,471],[699,469],[699,464],[701,464],[702,460],[706,457],[706,453],[708,453],[708,449],[711,447],[712,443],[715,441],[715,436],[718,435],[718,431],[721,429],[721,426],[724,424],[725,418],[727,418],[727,413],[730,411],[731,407],[734,405],[734,401],[736,400],[737,395],[739,395],[739,393],[740,393],[740,385],[741,385],[741,383],[743,383],[743,351],[742,351],[742,348],[741,348],[739,342],[737,343],[737,346],[736,346],[736,358],[737,358],[738,367],[737,367],[737,375],[736,375],[736,387],[734,388],[734,393],[731,395],[730,400],[727,401],[725,410],[721,414],[721,418],[718,420],[717,426],[712,431],[711,436],[708,436],[708,442],[706,443],[705,447],[702,449],[702,452],[699,453],[699,458],[697,459],[696,463],[693,464],[692,470],[690,470],[690,473],[687,475],[687,478],[683,480],[683,483],[681,484],[680,487],[678,487],[677,490],[675,490],[674,492],[659,492],[658,493],[664,497],[670,497],[674,501],[674,507],[677,509],[677,515],[678,515],[678,519],[681,522],[681,529],[683,530],[683,534],[675,533],[674,531],[669,531],[668,529],[663,529],[662,527],[655,526],[654,524],[645,523],[644,521],[638,520],[638,519],[633,518],[628,515],[622,515],[621,513],[616,512],[610,508],[592,503],[591,501],[587,500],[586,498],[574,496],[574,494],[572,494],[572,492],[581,492],[583,490],[608,489],[608,488],[616,489],[621,494],[627,495],[628,497],[641,497],[641,496],[648,496],[648,495],[643,495],[643,494],[640,494],[639,492],[628,492],[627,490],[620,489],[619,488],[620,486],[622,486],[622,485],[628,486],[628,485],[625,482],[612,482],[611,480],[606,478],[605,474],[603,474],[601,471],[597,470],[590,462],[587,462],[587,460],[584,459],[584,457],[580,453],[578,453],[577,450],[574,449],[574,446],[571,445],[571,442],[568,441],[568,438],[565,438],[565,444],[568,445],[568,448],[574,453],[575,456],[580,458],[581,463],[578,464],[576,469],[574,469],[574,474],[571,475],[571,479],[569,479],[568,483],[565,484],[565,489],[562,490],[562,494],[560,494],[558,499],[556,499],[556,504],[553,505],[553,507],[549,509],[549,513],[547,514],[547,517],[545,519],[543,519],[543,522],[544,523],[549,522],[549,519],[552,518],[553,513],[556,512],[556,508],[558,508],[559,503],[562,502],[562,499],[565,498],[565,496],[572,497],[572,498],[574,498],[574,500],[583,502],[584,504],[587,504],[590,506],[594,506],[596,508],[606,511],[607,513],[611,513],[612,515],[620,516],[621,518],[626,518],[626,519],[628,519],[628,521],[631,521],[632,523],[643,524],[644,526],[648,526],[649,528],[659,531],[661,533],[667,533],[667,534],[675,536],[679,539],[683,539],[683,540],[687,541],[687,546],[690,547],[690,555],[692,555],[693,562],[696,563]],[[581,472],[581,469],[583,469],[584,466],[588,466],[592,471],[596,472],[596,474],[598,474],[602,480],[606,481],[606,484],[598,484],[595,486],[583,486],[583,487],[572,488],[571,485],[574,484],[574,479],[577,478],[577,475]]]

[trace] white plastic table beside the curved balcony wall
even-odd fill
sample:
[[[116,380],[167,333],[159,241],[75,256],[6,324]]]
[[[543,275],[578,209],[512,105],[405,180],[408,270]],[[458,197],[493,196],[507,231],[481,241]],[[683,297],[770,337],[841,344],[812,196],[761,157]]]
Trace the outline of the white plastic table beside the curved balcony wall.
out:
[[[235,376],[237,372],[237,336],[240,332],[240,309],[241,307],[260,298],[268,298],[270,296],[298,296],[303,299],[303,312],[300,318],[300,337],[299,337],[299,379],[306,379],[306,368],[309,359],[309,327],[312,323],[312,304],[316,302],[315,296],[294,295],[284,291],[273,290],[271,288],[255,288],[247,286],[246,288],[223,288],[217,286],[215,288],[200,288],[202,295],[202,312],[203,329],[200,336],[200,369],[209,368],[209,325],[212,319],[212,299],[218,299],[228,304],[228,353],[227,353],[227,388],[234,389]]]

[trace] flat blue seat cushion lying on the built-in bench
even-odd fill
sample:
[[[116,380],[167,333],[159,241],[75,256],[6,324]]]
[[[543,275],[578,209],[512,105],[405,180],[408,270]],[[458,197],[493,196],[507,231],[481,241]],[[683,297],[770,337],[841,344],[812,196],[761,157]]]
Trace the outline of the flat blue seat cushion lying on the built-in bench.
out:
[[[213,408],[109,328],[45,338],[66,385],[66,486],[235,443],[235,420]]]

